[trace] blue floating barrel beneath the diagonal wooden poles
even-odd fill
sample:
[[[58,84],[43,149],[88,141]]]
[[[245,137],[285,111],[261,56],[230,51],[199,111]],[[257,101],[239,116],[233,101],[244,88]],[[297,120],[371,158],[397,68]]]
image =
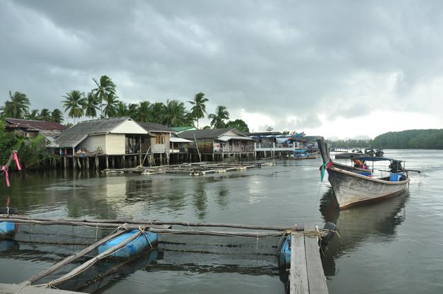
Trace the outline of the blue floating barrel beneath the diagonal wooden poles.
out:
[[[109,250],[110,248],[122,243],[126,239],[129,239],[129,237],[138,234],[138,232],[140,232],[140,230],[129,230],[129,232],[125,232],[122,235],[107,241],[105,244],[98,247],[98,254],[101,254],[102,252],[105,252],[106,250]],[[126,258],[139,255],[145,252],[145,250],[152,249],[152,247],[156,246],[158,241],[159,238],[156,233],[144,232],[110,256],[115,258]]]

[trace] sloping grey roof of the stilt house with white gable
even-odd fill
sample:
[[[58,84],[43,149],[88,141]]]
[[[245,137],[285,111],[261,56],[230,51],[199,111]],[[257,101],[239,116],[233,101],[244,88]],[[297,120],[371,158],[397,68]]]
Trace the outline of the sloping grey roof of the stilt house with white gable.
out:
[[[105,118],[103,120],[86,120],[79,122],[77,125],[73,125],[63,131],[55,140],[55,144],[59,147],[75,147],[80,144],[82,140],[86,139],[87,136],[93,134],[108,134],[126,120],[131,120],[131,118]]]

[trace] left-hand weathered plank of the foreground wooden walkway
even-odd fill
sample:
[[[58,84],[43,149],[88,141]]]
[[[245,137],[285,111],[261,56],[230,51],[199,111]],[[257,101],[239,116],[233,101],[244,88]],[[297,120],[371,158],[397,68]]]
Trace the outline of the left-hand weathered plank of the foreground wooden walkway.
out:
[[[305,237],[296,232],[291,234],[291,268],[289,270],[291,294],[308,294]]]

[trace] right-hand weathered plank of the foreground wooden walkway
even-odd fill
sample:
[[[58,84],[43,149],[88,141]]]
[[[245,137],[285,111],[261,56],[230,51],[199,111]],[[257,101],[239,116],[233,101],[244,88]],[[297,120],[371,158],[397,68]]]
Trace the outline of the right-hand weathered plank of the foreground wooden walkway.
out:
[[[307,226],[307,230],[315,230],[314,226]],[[320,259],[318,239],[305,237],[307,279],[309,282],[309,294],[327,294],[327,284],[323,265]]]

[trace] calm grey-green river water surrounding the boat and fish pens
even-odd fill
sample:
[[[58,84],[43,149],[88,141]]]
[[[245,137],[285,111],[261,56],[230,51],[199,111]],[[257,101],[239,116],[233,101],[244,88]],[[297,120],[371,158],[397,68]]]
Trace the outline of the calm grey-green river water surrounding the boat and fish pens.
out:
[[[276,161],[261,169],[201,177],[60,171],[12,175],[8,189],[1,179],[0,203],[10,196],[11,207],[31,217],[320,227],[334,221],[340,237],[323,258],[329,293],[443,293],[443,151],[385,151],[386,157],[404,159],[406,167],[422,173],[410,173],[410,187],[400,196],[341,212],[327,181],[320,184],[320,159]],[[0,282],[22,282],[78,248],[1,244]],[[186,252],[156,252],[89,291],[284,293],[284,275],[276,258],[275,266],[259,266],[258,261],[256,267],[246,261],[226,266]]]

